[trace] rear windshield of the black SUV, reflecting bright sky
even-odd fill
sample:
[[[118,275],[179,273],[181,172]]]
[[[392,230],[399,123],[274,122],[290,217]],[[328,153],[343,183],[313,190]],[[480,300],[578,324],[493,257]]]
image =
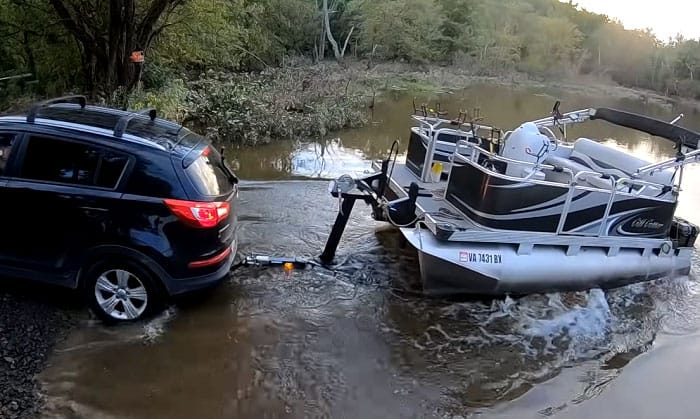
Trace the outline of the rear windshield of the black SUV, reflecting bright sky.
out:
[[[207,147],[185,172],[201,194],[219,196],[233,190],[233,175],[211,147]]]

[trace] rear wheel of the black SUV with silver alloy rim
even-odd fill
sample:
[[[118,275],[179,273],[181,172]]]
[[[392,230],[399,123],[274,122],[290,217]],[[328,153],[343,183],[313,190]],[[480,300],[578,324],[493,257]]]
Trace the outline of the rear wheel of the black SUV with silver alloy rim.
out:
[[[143,320],[163,308],[153,274],[129,260],[102,261],[90,266],[83,292],[92,312],[110,325]]]

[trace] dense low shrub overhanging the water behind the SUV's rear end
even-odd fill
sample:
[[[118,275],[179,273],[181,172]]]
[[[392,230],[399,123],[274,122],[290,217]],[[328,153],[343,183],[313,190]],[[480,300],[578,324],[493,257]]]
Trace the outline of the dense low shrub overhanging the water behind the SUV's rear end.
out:
[[[365,123],[367,99],[337,69],[261,74],[208,72],[191,83],[190,119],[218,140],[243,144],[323,137]]]

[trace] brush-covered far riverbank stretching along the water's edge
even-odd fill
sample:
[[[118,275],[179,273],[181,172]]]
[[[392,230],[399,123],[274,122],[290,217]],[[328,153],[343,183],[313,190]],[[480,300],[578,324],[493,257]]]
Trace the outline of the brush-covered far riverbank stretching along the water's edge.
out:
[[[417,96],[452,93],[474,84],[512,88],[558,88],[589,96],[613,96],[662,106],[697,101],[666,97],[597,78],[538,80],[523,73],[478,76],[455,66],[405,63],[344,65],[324,62],[271,67],[260,73],[209,71],[183,76],[159,90],[133,94],[129,107],[155,106],[172,119],[205,132],[220,143],[257,145],[280,139],[322,138],[366,125],[389,92]],[[406,109],[410,112],[410,109]]]

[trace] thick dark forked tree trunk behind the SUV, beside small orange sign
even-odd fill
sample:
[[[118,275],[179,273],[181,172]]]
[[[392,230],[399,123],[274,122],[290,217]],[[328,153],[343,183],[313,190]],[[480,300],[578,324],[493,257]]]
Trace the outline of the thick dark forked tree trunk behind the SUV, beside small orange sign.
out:
[[[141,66],[131,62],[131,54],[148,51],[155,37],[172,24],[168,19],[184,0],[50,3],[80,47],[85,88],[96,93],[97,89],[135,85]]]

